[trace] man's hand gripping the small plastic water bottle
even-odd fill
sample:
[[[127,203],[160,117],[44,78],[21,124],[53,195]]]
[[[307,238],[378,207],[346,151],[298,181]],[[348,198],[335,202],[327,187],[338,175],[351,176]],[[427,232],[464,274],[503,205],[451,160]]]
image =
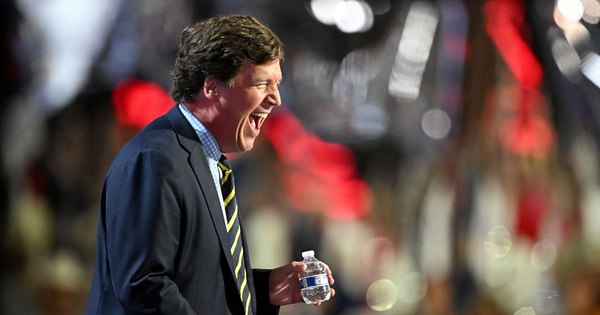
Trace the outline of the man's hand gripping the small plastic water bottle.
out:
[[[329,285],[334,284],[334,277],[331,275],[331,269],[325,263]],[[298,302],[304,302],[300,291],[300,281],[298,273],[305,271],[306,265],[302,262],[292,262],[283,265],[279,268],[271,270],[269,274],[269,302],[272,305],[287,305]],[[335,295],[335,290],[331,289],[331,296]],[[321,305],[321,302],[316,302],[314,305]]]

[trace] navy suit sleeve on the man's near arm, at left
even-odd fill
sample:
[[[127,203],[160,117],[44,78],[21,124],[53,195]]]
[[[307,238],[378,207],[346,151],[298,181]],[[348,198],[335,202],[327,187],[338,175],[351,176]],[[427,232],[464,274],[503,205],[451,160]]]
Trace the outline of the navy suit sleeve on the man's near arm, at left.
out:
[[[171,280],[181,228],[176,177],[173,161],[148,149],[107,181],[110,276],[119,302],[131,313],[194,314]]]

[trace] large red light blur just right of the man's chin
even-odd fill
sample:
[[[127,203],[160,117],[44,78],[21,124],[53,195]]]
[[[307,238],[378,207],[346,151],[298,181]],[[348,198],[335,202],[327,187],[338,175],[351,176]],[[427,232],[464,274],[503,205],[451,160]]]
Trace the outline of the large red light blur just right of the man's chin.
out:
[[[266,137],[280,157],[280,173],[289,202],[302,211],[322,211],[335,219],[367,214],[371,193],[356,173],[352,152],[344,145],[324,142],[308,133],[284,108],[263,125]]]

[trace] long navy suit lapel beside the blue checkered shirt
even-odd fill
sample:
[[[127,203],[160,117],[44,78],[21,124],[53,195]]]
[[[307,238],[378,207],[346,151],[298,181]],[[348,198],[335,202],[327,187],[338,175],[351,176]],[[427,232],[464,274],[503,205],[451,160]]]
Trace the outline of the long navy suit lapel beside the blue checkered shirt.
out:
[[[229,250],[229,242],[227,241],[227,230],[223,221],[223,210],[221,209],[221,202],[215,188],[215,183],[212,179],[210,167],[206,161],[206,154],[202,147],[202,143],[198,140],[194,128],[191,127],[190,123],[181,113],[181,110],[179,110],[179,106],[170,109],[166,116],[171,125],[173,125],[173,128],[175,128],[179,143],[190,153],[189,162],[191,169],[193,170],[194,175],[196,175],[200,190],[205,197],[206,206],[208,206],[208,210],[211,213],[212,224],[214,225],[215,230],[217,230],[221,250],[223,250],[227,257],[229,270],[232,277],[235,279],[233,273],[233,260],[231,251]]]

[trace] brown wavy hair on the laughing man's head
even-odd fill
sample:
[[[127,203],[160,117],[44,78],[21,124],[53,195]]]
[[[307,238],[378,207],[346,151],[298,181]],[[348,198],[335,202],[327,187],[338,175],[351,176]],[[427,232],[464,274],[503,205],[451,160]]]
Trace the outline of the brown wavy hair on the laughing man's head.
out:
[[[190,25],[171,71],[170,96],[177,103],[196,101],[206,77],[231,86],[245,64],[267,64],[283,59],[283,44],[251,16],[212,17]]]

